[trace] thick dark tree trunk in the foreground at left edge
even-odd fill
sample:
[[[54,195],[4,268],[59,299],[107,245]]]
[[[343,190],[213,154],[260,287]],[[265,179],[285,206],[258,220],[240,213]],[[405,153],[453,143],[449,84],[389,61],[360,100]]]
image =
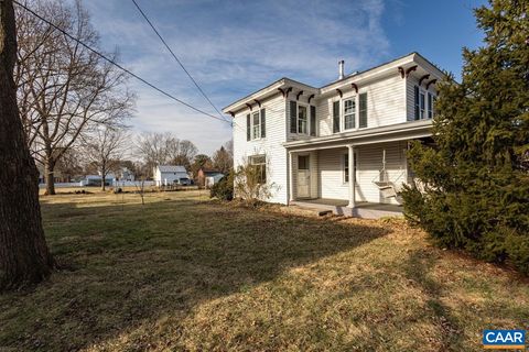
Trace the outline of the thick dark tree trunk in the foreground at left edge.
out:
[[[0,290],[47,277],[39,205],[39,172],[24,140],[13,66],[17,37],[12,0],[0,0]]]

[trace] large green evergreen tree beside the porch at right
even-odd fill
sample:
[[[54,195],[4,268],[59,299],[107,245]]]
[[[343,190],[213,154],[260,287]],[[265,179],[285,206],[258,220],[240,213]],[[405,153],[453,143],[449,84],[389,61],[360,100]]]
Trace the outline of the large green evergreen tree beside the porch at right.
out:
[[[529,273],[529,2],[475,10],[484,46],[463,50],[462,82],[439,85],[435,147],[415,143],[404,213],[443,245]]]

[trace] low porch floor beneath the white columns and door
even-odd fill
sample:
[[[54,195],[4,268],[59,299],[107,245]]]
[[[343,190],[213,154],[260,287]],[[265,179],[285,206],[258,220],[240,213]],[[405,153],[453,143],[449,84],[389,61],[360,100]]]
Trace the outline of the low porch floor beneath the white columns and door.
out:
[[[402,217],[402,206],[378,204],[378,202],[357,202],[355,208],[347,208],[347,200],[344,199],[298,199],[290,202],[292,206],[309,208],[314,210],[331,210],[335,215],[347,217],[379,219],[384,217]]]

